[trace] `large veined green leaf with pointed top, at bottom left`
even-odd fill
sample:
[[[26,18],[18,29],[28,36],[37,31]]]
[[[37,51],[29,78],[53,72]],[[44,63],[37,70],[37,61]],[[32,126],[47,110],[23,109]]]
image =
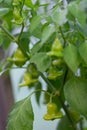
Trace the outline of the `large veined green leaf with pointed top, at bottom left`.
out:
[[[33,130],[33,110],[30,97],[27,97],[13,106],[6,130]]]

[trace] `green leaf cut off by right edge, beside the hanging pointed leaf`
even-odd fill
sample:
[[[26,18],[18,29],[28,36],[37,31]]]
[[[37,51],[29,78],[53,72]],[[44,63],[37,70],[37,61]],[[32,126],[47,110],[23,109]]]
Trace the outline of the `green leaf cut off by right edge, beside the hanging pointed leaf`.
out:
[[[80,45],[79,53],[80,53],[82,59],[87,63],[87,41],[85,41],[85,43],[82,43]]]

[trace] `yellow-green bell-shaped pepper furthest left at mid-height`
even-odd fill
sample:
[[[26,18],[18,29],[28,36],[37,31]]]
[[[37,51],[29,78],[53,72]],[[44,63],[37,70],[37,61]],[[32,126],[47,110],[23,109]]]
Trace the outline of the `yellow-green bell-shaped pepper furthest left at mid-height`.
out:
[[[25,64],[27,58],[22,53],[20,48],[17,48],[17,50],[13,54],[13,58],[8,58],[7,60],[10,61],[10,62],[13,62],[15,65],[21,67],[22,65]]]

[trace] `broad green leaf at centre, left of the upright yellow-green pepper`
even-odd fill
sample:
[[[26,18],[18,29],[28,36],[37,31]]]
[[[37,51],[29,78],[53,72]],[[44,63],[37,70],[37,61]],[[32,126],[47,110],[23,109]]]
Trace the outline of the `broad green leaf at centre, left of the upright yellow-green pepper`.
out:
[[[32,58],[30,59],[31,63],[35,63],[37,66],[37,69],[41,72],[46,71],[51,65],[51,59],[46,55],[46,53],[36,53]]]

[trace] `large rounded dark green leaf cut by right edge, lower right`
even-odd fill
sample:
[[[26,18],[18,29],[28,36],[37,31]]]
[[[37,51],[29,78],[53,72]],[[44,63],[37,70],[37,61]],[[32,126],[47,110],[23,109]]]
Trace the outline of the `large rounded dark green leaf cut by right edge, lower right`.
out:
[[[73,110],[87,118],[87,80],[70,79],[64,86],[64,94]]]

